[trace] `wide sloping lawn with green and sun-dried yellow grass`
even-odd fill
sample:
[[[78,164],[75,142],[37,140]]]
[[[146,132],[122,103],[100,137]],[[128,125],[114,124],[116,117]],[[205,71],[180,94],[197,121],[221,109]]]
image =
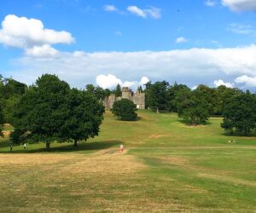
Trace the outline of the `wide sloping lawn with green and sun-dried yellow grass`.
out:
[[[139,116],[106,112],[98,137],[49,153],[43,143],[9,153],[1,139],[0,211],[256,212],[256,137],[224,135],[221,118],[188,126],[173,113]]]

